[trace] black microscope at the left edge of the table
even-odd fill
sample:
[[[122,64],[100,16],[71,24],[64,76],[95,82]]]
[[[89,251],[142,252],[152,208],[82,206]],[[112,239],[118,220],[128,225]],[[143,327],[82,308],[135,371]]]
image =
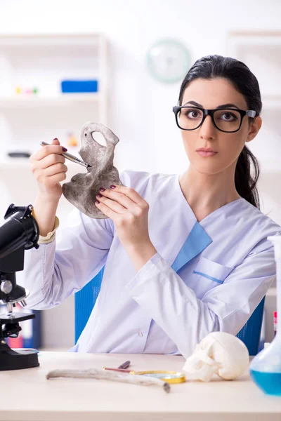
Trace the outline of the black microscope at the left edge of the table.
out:
[[[35,349],[16,352],[5,340],[18,337],[20,321],[35,317],[34,314],[13,312],[17,302],[26,306],[25,298],[30,293],[16,284],[15,272],[24,268],[25,250],[39,248],[39,227],[32,209],[32,205],[20,207],[12,203],[0,225],[0,305],[6,305],[6,313],[0,312],[0,370],[39,366]]]

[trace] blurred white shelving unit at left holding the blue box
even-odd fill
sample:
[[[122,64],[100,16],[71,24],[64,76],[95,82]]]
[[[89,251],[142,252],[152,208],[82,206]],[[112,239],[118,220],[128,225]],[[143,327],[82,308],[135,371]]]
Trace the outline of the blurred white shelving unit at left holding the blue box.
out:
[[[33,204],[37,182],[29,159],[9,158],[7,152],[40,149],[40,142],[58,138],[68,152],[79,156],[79,134],[87,121],[109,126],[107,112],[107,41],[103,34],[50,34],[0,36],[0,221],[11,203]],[[65,79],[97,79],[98,93],[61,93]],[[36,95],[18,95],[16,87],[38,88]],[[74,133],[79,145],[67,145],[67,133]],[[96,137],[95,137],[96,138]],[[66,160],[67,179],[86,168]],[[60,226],[74,206],[60,199]],[[69,349],[74,340],[74,296],[62,305],[44,311],[43,345]],[[65,320],[63,330],[51,328]],[[63,335],[63,336],[62,336]],[[51,338],[51,339],[50,339]]]

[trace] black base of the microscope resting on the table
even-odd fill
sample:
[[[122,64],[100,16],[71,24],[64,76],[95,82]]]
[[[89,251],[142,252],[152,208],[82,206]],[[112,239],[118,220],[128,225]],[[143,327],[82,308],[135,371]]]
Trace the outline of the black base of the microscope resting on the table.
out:
[[[39,367],[37,351],[20,354],[11,349],[4,340],[0,342],[0,371],[21,370],[22,368]]]

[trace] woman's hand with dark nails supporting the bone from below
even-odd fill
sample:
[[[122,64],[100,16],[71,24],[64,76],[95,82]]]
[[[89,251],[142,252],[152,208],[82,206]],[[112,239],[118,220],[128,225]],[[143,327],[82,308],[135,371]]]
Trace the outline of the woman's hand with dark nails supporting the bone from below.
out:
[[[110,186],[111,187],[111,186]],[[131,187],[101,187],[96,207],[115,222],[117,235],[125,248],[151,245],[148,234],[149,205]]]

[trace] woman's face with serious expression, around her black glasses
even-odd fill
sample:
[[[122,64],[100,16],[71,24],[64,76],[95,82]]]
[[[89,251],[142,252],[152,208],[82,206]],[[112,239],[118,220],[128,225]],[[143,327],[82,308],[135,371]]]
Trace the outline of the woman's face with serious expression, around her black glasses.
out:
[[[227,108],[237,107],[247,110],[247,102],[226,79],[195,79],[185,88],[181,105],[197,103],[197,107],[216,109],[228,104]],[[232,106],[230,106],[232,104]],[[196,113],[194,114],[196,115]],[[222,118],[229,118],[223,115]],[[261,127],[261,118],[257,117],[253,123],[249,124],[249,117],[244,116],[242,126],[235,133],[224,133],[218,131],[211,121],[211,116],[204,119],[204,123],[193,131],[181,131],[183,145],[188,155],[190,165],[202,174],[216,174],[226,170],[230,166],[235,166],[238,156],[242,151],[245,142],[250,142]],[[216,154],[204,156],[198,152],[200,148],[211,148]]]

